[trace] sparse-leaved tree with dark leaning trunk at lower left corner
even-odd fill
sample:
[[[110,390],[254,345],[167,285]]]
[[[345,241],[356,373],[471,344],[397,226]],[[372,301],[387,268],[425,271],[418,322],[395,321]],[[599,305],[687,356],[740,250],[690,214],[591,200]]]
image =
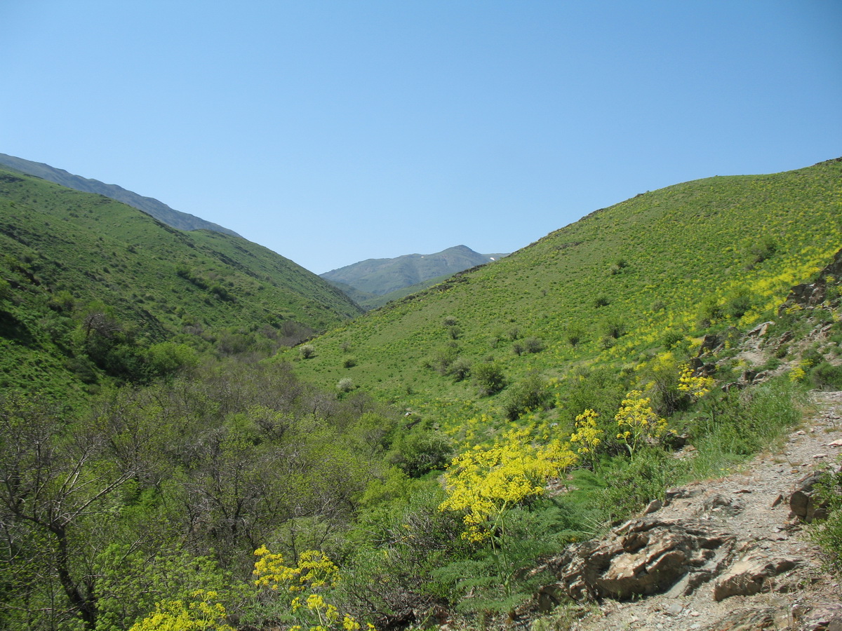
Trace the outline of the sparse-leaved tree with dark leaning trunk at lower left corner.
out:
[[[65,422],[59,411],[17,397],[0,400],[0,529],[3,560],[15,568],[35,566],[50,580],[24,582],[25,593],[49,589],[55,579],[72,615],[96,625],[95,576],[80,531],[98,518],[105,499],[131,479],[105,459],[109,436],[97,419]],[[128,464],[128,463],[127,463]],[[38,544],[27,549],[26,544]],[[51,597],[51,596],[48,596]]]

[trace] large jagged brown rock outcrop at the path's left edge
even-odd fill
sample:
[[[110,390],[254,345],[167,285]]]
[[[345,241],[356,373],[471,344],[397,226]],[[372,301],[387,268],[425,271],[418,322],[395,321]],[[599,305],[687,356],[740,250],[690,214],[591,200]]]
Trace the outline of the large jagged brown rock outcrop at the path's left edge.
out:
[[[690,520],[655,517],[626,522],[599,541],[568,547],[546,564],[558,582],[541,591],[584,601],[668,591],[690,594],[724,567],[734,536]]]

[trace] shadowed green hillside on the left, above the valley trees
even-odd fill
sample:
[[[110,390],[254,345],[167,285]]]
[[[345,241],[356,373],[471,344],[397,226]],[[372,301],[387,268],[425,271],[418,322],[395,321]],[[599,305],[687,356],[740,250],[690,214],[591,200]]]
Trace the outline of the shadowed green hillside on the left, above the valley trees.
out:
[[[0,171],[0,252],[0,386],[131,376],[143,349],[165,341],[270,352],[360,313],[241,237],[178,231],[16,172]],[[82,351],[96,340],[98,350]]]

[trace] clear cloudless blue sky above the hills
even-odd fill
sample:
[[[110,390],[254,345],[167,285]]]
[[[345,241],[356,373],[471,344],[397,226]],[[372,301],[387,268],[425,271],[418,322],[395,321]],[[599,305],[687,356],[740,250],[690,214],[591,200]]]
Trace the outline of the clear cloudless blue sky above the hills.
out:
[[[316,273],[842,156],[842,2],[2,0],[0,152]]]

